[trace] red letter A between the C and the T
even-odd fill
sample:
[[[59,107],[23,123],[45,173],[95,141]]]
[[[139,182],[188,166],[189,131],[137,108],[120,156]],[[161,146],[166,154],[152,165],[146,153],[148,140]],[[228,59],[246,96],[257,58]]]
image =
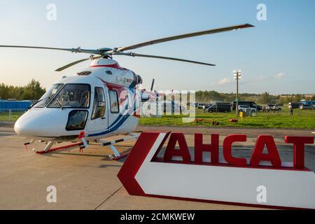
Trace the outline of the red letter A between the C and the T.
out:
[[[265,146],[268,154],[262,153]],[[275,168],[281,167],[281,160],[274,143],[274,138],[269,135],[260,135],[255,144],[253,155],[251,155],[251,166],[258,167],[260,161],[271,161]]]

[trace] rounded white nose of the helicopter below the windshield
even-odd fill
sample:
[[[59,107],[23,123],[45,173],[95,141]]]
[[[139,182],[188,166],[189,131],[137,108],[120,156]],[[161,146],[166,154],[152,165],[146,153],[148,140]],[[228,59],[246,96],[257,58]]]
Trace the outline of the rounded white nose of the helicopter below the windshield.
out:
[[[31,110],[16,121],[14,130],[25,137],[55,137],[59,127],[50,113]]]

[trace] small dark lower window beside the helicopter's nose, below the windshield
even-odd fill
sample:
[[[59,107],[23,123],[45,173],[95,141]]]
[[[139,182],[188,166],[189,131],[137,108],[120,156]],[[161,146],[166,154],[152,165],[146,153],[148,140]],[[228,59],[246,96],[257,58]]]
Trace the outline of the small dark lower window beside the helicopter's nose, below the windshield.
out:
[[[87,120],[87,111],[74,110],[69,113],[68,122],[66,123],[67,131],[84,130]]]

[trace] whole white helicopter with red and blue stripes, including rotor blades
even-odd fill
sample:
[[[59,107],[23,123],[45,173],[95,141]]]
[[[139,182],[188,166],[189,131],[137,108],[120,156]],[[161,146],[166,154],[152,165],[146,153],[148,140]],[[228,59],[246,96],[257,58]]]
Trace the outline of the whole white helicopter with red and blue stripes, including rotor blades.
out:
[[[113,56],[151,57],[214,66],[214,64],[195,62],[187,59],[141,55],[126,51],[156,43],[248,27],[254,26],[244,24],[209,29],[113,49],[99,48],[97,50],[86,50],[81,48],[0,45],[1,48],[36,48],[91,54],[90,57],[66,64],[56,71],[62,71],[89,59],[92,60],[89,68],[83,69],[83,71],[78,72],[75,76],[64,76],[55,82],[45,92],[43,97],[17,120],[14,130],[17,134],[32,139],[25,146],[34,143],[36,140],[46,142],[46,146],[42,151],[33,149],[36,153],[48,153],[75,146],[86,148],[90,141],[95,141],[102,146],[111,147],[114,153],[114,155],[110,155],[111,159],[120,159],[123,155],[118,153],[113,144],[138,137],[131,134],[131,132],[139,123],[142,79],[133,71],[121,67],[118,62],[113,60]],[[111,142],[102,140],[118,134],[126,134],[129,137]],[[52,148],[54,144],[64,141],[74,142],[74,144]]]

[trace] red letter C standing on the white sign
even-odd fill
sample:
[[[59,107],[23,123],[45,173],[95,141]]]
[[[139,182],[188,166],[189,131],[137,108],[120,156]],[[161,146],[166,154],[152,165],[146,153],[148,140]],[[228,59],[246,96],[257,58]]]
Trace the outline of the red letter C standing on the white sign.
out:
[[[245,158],[234,158],[232,156],[232,144],[235,141],[246,141],[246,134],[232,134],[223,141],[223,155],[226,162],[236,166],[246,166]]]

